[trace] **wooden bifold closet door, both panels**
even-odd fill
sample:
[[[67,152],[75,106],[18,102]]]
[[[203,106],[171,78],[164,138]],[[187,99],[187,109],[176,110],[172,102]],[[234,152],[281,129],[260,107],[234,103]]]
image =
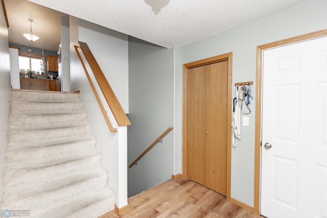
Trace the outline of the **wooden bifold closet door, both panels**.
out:
[[[188,178],[227,192],[228,61],[188,69]]]

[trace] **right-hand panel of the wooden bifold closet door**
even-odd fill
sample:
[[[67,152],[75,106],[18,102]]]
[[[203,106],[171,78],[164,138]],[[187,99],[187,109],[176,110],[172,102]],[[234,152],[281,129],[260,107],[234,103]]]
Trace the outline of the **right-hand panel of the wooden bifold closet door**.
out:
[[[226,195],[228,61],[206,66],[205,186]]]

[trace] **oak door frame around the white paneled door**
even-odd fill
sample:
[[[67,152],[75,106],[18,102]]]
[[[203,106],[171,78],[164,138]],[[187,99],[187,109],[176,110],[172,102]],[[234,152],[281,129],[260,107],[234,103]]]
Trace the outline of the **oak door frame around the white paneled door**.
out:
[[[327,36],[327,29],[303,34],[256,47],[256,99],[255,99],[255,150],[254,150],[254,213],[260,214],[261,182],[261,122],[262,122],[262,74],[263,51],[299,41]]]

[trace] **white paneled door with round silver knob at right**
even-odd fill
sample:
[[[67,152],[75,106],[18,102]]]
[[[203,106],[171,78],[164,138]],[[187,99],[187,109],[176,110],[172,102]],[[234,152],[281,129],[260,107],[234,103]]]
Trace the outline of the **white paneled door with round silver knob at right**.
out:
[[[263,54],[261,214],[327,217],[327,37]]]

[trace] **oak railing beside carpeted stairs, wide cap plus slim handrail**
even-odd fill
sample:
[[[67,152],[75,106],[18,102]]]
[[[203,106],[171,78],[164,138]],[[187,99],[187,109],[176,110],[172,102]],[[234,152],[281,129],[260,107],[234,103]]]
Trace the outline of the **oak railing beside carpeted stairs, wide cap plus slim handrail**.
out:
[[[109,85],[109,82],[108,80],[106,79],[106,77],[104,76],[97,60],[95,59],[95,57],[93,56],[92,52],[90,51],[89,47],[87,46],[87,44],[85,42],[81,42],[81,41],[78,41],[80,46],[74,46],[75,47],[75,50],[76,50],[76,53],[77,53],[77,56],[78,58],[80,59],[81,63],[82,63],[82,66],[83,66],[83,69],[85,71],[85,74],[86,74],[86,77],[91,85],[91,88],[92,88],[92,91],[94,92],[96,98],[97,98],[97,101],[99,103],[99,106],[101,108],[101,112],[107,122],[107,125],[110,129],[110,132],[117,132],[117,129],[116,128],[113,128],[112,125],[111,125],[111,122],[106,114],[106,111],[105,111],[105,108],[99,98],[99,95],[95,89],[95,86],[87,72],[87,69],[85,67],[85,64],[83,62],[83,59],[78,51],[78,48],[80,48],[90,66],[90,69],[91,71],[93,72],[98,84],[99,84],[99,87],[110,107],[110,110],[116,120],[116,122],[118,123],[119,126],[124,126],[124,125],[131,125],[127,115],[125,114],[124,110],[123,110],[123,107],[122,105],[120,104],[120,102],[118,101],[117,97],[115,96],[113,90],[111,89],[111,86]]]

